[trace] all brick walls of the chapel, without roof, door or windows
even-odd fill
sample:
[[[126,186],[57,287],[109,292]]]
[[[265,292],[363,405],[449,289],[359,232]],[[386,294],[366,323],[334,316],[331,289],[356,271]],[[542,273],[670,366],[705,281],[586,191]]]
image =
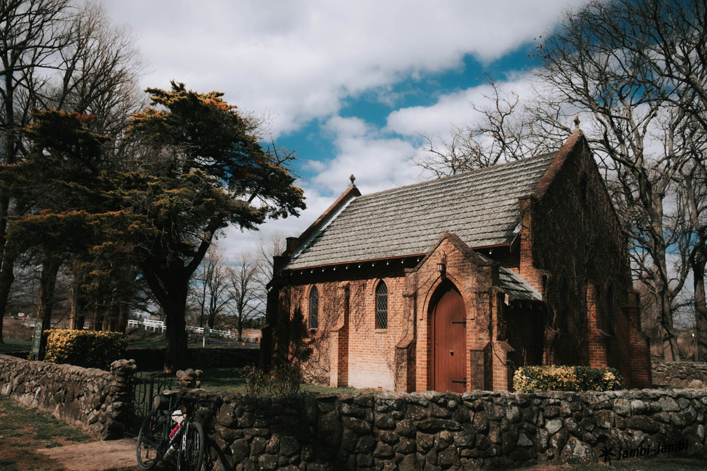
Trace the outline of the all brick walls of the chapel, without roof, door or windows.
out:
[[[630,385],[648,385],[648,349],[638,332],[626,240],[581,134],[568,140],[534,194],[519,203],[518,239],[496,251],[487,248],[484,257],[445,234],[425,257],[286,271],[276,280],[277,315],[285,318],[275,319],[269,307],[266,332],[279,329],[278,342],[290,349],[298,343],[312,349],[305,374],[322,383],[430,390],[431,314],[437,290],[452,284],[466,308],[467,390],[507,389],[509,371],[538,363],[614,366]],[[509,264],[542,293],[544,304],[498,297],[496,266],[486,256]],[[388,288],[385,330],[375,329],[380,281]],[[306,320],[312,286],[320,292],[320,327],[307,330],[300,342],[285,331],[293,320]],[[520,316],[527,332],[508,327]],[[284,349],[277,345],[275,351]]]

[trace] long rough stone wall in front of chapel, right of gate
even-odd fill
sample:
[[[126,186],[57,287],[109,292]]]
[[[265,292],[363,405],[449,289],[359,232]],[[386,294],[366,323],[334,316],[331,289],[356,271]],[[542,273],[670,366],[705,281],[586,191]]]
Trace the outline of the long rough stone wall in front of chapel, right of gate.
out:
[[[222,395],[215,469],[460,470],[703,455],[706,390]]]

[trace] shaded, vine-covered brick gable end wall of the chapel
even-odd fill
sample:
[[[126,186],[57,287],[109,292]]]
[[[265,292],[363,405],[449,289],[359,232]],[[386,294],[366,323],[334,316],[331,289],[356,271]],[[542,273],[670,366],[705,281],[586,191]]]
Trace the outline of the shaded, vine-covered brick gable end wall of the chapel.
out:
[[[629,384],[643,385],[650,372],[641,365],[649,353],[638,332],[637,311],[631,316],[626,239],[581,134],[563,147],[549,173],[554,179],[542,182],[525,202],[533,267],[547,276],[550,351],[545,361],[614,366]],[[520,264],[522,271],[523,260]]]

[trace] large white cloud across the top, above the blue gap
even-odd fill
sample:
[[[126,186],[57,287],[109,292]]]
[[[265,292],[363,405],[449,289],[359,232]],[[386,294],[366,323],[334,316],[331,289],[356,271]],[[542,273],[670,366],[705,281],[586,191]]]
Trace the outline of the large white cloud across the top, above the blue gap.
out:
[[[172,79],[221,90],[274,115],[276,132],[334,115],[341,100],[403,77],[491,61],[583,0],[104,0],[148,63],[145,86]]]

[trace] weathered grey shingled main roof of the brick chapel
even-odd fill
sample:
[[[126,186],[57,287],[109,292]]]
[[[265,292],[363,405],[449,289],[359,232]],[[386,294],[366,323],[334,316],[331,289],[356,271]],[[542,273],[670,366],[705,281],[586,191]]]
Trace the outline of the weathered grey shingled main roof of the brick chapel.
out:
[[[300,240],[286,269],[426,254],[445,232],[470,248],[508,244],[518,199],[532,194],[556,152],[352,199]]]

